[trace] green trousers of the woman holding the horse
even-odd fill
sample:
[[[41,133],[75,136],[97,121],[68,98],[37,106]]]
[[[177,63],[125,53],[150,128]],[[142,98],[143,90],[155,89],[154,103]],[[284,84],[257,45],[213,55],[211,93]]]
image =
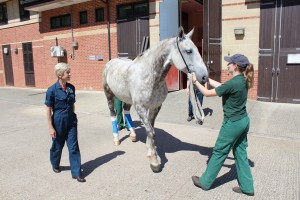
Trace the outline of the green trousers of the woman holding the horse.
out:
[[[215,181],[218,173],[232,149],[235,158],[238,183],[243,192],[254,193],[253,177],[247,157],[247,134],[250,120],[246,116],[237,121],[224,120],[218,139],[206,171],[199,179],[200,183],[209,189]]]

